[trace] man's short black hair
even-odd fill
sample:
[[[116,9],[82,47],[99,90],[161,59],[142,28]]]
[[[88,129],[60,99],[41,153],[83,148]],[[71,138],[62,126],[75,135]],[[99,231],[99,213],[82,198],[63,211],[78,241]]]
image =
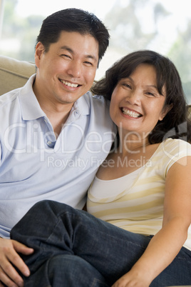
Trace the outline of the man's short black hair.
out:
[[[93,13],[76,8],[57,11],[44,19],[36,44],[40,41],[48,51],[50,44],[58,41],[61,31],[93,36],[99,45],[99,61],[109,44],[110,35],[103,22]]]

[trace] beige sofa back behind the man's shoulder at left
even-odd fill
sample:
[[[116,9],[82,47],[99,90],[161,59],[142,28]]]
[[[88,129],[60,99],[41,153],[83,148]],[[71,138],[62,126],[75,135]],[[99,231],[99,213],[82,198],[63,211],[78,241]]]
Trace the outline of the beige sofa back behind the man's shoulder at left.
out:
[[[0,55],[0,96],[24,86],[29,77],[35,73],[35,64]]]

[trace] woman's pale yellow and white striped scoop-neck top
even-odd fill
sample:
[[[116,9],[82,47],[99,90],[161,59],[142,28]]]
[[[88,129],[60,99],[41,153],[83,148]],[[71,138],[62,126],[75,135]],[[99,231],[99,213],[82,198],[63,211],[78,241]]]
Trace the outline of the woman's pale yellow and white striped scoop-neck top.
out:
[[[167,171],[185,156],[191,156],[190,144],[166,139],[133,173],[110,181],[96,177],[88,190],[88,212],[125,230],[154,235],[162,227]],[[191,250],[191,227],[184,246]]]

